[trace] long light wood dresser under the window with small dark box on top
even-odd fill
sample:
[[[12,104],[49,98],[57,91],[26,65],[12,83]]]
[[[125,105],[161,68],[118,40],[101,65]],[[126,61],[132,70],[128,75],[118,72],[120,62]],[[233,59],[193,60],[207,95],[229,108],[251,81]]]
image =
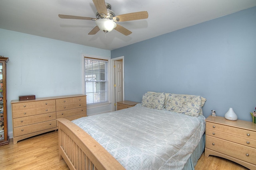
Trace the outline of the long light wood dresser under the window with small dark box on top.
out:
[[[12,100],[13,143],[58,129],[56,119],[86,116],[86,96],[69,95],[35,100]]]

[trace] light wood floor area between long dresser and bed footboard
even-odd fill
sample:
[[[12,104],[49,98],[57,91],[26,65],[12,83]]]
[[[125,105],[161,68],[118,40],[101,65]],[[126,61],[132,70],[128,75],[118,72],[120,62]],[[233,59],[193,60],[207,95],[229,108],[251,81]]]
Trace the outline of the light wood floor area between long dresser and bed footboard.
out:
[[[58,158],[58,131],[0,147],[1,170],[69,170]]]

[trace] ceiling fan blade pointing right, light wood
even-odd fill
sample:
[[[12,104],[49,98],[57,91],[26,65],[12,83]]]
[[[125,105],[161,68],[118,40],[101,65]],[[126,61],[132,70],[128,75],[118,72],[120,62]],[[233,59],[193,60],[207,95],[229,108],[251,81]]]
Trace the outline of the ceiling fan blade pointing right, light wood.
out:
[[[132,21],[132,20],[142,20],[148,18],[148,12],[141,11],[141,12],[133,12],[129,14],[122,14],[119,16],[113,17],[116,21]]]

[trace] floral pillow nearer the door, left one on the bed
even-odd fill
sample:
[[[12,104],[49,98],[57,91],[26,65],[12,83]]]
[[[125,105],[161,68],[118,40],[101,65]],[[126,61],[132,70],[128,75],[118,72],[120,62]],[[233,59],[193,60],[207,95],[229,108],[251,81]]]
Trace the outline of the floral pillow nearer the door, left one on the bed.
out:
[[[162,110],[164,108],[164,93],[146,93],[142,96],[142,106]]]

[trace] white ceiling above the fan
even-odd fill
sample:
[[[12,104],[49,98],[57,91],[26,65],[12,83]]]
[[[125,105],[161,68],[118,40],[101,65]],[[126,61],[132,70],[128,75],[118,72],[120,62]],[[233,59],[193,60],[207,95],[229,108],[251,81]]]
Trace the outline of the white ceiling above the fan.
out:
[[[0,0],[0,28],[113,50],[158,35],[256,6],[256,0],[105,0],[117,15],[147,11],[148,19],[118,22],[116,30],[88,33],[95,21],[61,19],[58,14],[96,18],[92,0]]]

